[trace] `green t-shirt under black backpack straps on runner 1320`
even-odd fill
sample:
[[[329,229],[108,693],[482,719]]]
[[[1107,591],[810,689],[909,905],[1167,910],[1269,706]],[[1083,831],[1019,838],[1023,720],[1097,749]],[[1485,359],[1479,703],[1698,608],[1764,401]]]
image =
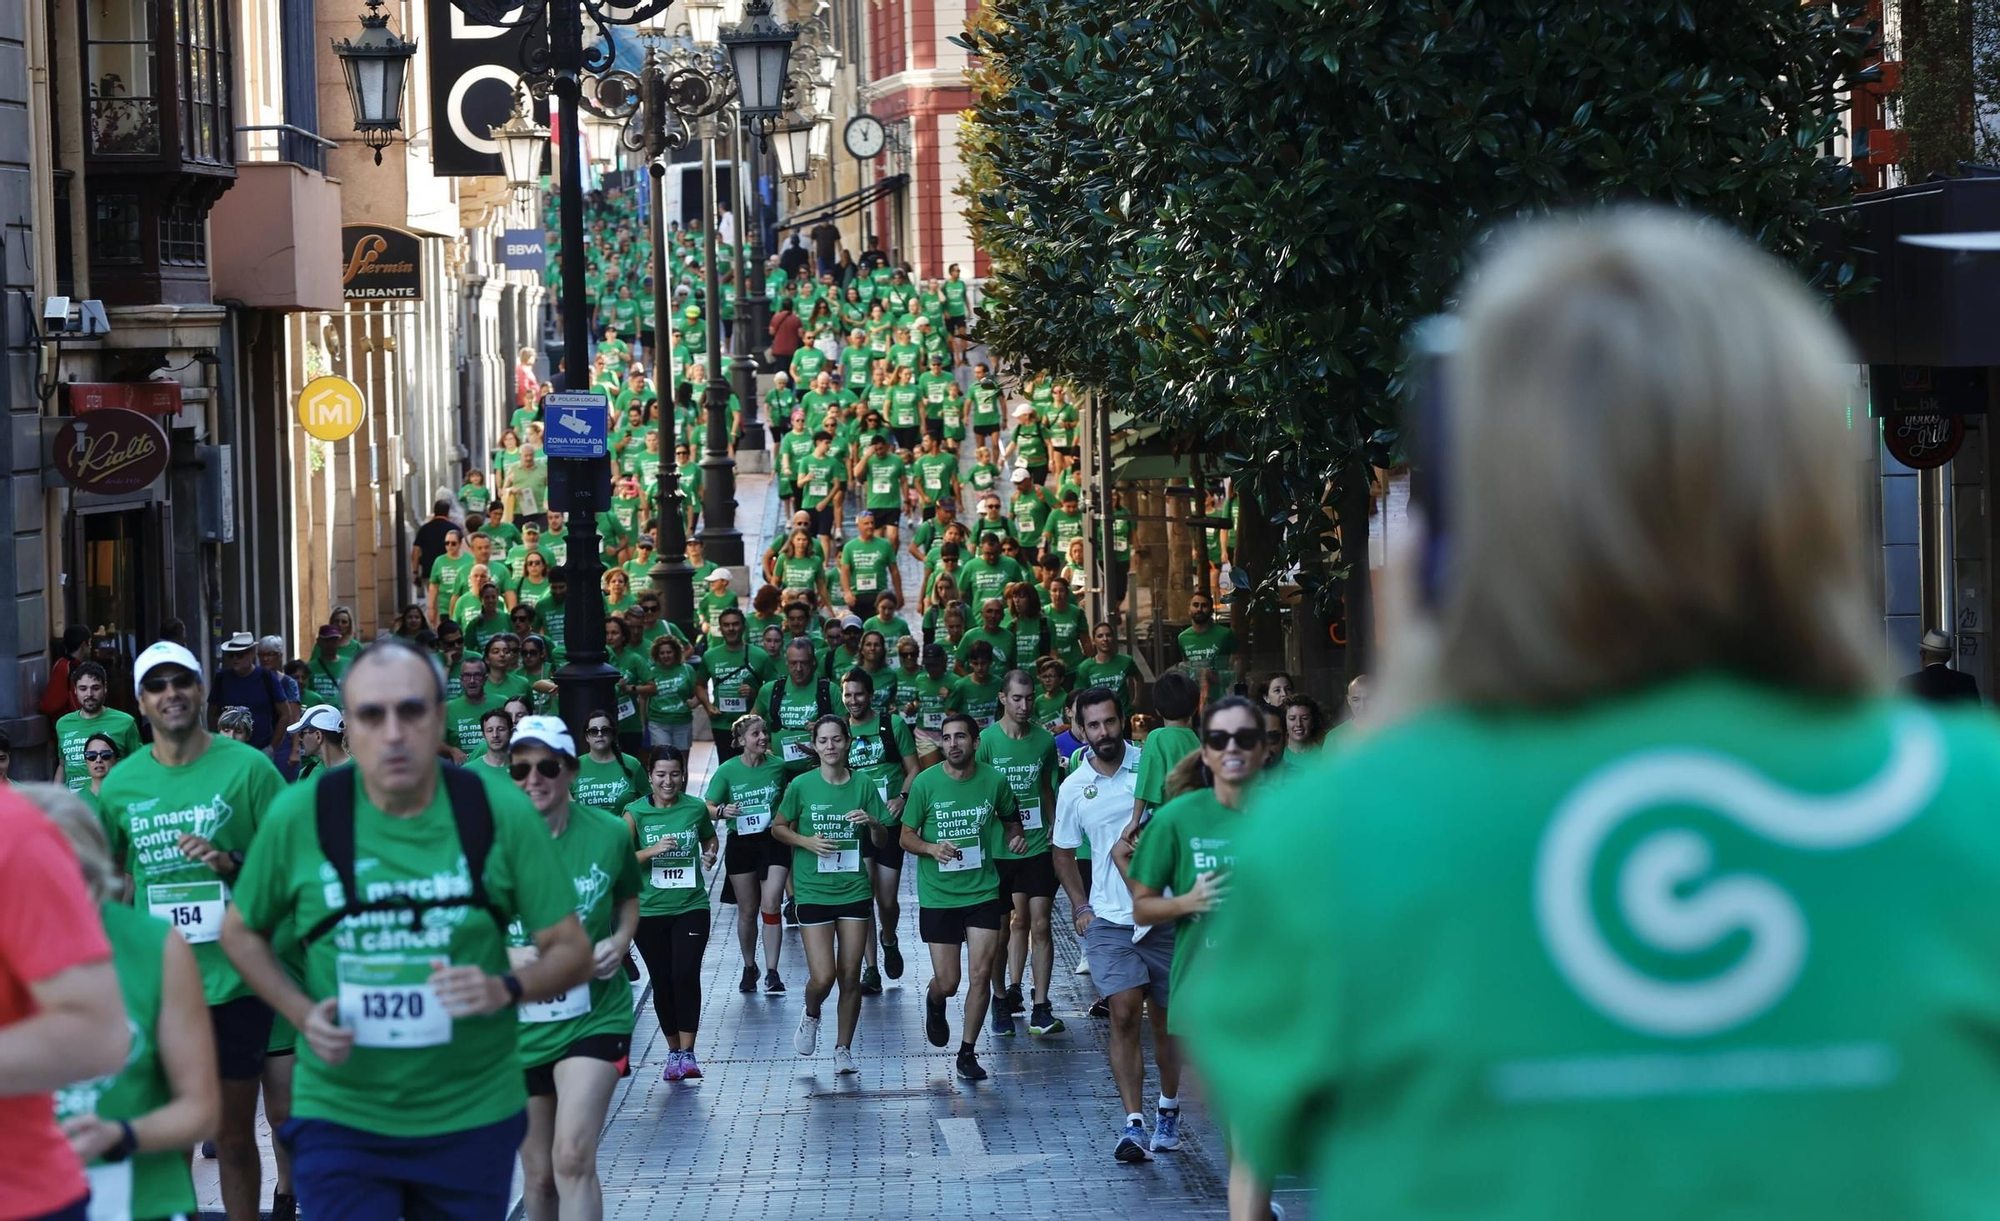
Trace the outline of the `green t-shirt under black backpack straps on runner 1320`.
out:
[[[576,911],[576,887],[550,851],[542,817],[500,773],[472,775],[486,785],[494,819],[486,897],[530,931],[562,923]],[[312,929],[338,911],[340,889],[326,881],[314,827],[320,783],[284,791],[258,829],[236,883],[236,909],[258,933],[270,935],[284,921]],[[354,785],[354,867],[362,899],[470,893],[442,775],[432,803],[412,819],[384,815],[366,785]],[[426,983],[438,961],[504,975],[506,929],[472,907],[436,909],[422,927],[410,913],[382,911],[342,921],[304,949],[306,995],[340,997],[340,1021],[356,1027],[356,1047],[336,1069],[298,1041],[294,1117],[430,1137],[498,1123],[528,1105],[516,1051],[520,1017],[508,1009],[448,1017]]]

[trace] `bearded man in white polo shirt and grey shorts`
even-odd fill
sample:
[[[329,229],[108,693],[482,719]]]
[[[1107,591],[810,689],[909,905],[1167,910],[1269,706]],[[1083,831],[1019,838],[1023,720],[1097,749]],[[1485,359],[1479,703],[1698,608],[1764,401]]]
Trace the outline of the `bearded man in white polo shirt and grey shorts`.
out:
[[[1146,1161],[1146,1061],[1140,1021],[1152,999],[1152,1047],[1160,1069],[1160,1103],[1152,1133],[1152,1153],[1180,1147],[1180,1049],[1166,1033],[1166,983],[1174,965],[1172,929],[1134,929],[1132,893],[1112,863],[1112,847],[1132,821],[1132,793],[1138,785],[1138,747],[1124,741],[1118,693],[1092,687],[1076,697],[1076,737],[1088,751],[1056,793],[1054,847],[1056,877],[1076,913],[1076,935],[1090,957],[1090,977],[1112,1009],[1112,1079],[1124,1103],[1126,1121],[1112,1153],[1118,1161]],[[1090,839],[1090,893],[1076,869],[1076,849]],[[1134,937],[1136,933],[1136,937]]]

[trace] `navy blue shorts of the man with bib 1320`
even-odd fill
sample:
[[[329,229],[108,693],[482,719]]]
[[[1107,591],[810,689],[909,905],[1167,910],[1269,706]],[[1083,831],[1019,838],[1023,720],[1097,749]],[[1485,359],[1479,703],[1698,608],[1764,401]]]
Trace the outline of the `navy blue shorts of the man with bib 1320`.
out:
[[[330,1119],[292,1119],[298,1211],[312,1221],[504,1221],[528,1113],[436,1137],[380,1137]]]

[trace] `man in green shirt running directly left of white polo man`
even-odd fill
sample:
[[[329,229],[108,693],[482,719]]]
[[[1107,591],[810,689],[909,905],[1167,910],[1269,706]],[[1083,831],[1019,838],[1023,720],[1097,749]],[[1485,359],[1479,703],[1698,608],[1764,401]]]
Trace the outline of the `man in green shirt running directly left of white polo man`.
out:
[[[1000,899],[1012,909],[1012,931],[1000,927],[1002,953],[994,963],[994,1035],[1014,1035],[1022,1011],[1020,981],[1034,951],[1034,1009],[1030,1035],[1062,1033],[1062,1019],[1048,1003],[1048,977],[1056,961],[1050,915],[1056,909],[1056,869],[1048,857],[1048,825],[1056,817],[1056,735],[1034,723],[1034,679],[1008,671],[1000,681],[1000,719],[980,731],[978,761],[1006,777],[1020,811],[1028,845],[1000,847]],[[1002,989],[1002,985],[1006,985]]]

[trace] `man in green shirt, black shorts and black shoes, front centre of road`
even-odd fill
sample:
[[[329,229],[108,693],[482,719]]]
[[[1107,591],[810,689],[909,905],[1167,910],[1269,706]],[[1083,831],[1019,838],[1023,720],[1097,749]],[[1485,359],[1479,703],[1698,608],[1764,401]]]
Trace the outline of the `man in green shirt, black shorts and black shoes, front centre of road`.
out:
[[[918,773],[902,807],[902,849],[922,857],[916,871],[916,927],[930,947],[930,991],[924,995],[924,1037],[946,1047],[952,1027],[944,1003],[958,991],[958,947],[966,947],[966,1013],[960,1025],[958,1075],[986,1081],[974,1053],[986,1019],[994,951],[1000,947],[1000,873],[992,853],[1020,853],[1028,839],[1006,779],[976,759],[980,727],[966,713],[944,717],[944,765]],[[1004,829],[1004,837],[1002,837]]]

